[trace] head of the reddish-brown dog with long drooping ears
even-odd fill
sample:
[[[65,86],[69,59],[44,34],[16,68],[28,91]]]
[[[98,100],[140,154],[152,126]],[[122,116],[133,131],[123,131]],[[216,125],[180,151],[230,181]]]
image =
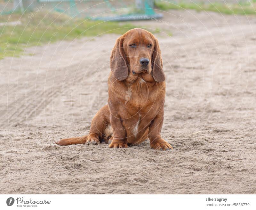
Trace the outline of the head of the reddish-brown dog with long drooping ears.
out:
[[[132,29],[116,40],[110,68],[119,81],[125,80],[129,73],[152,73],[156,82],[165,80],[158,41],[152,33],[141,28]]]

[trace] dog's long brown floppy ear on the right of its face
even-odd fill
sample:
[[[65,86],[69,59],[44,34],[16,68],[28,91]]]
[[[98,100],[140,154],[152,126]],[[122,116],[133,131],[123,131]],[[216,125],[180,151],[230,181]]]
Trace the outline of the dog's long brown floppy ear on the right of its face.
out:
[[[153,69],[153,77],[156,82],[163,82],[165,80],[165,75],[163,71],[163,61],[161,57],[161,51],[159,48],[159,44],[157,39],[155,38],[155,47],[152,56],[152,69]]]

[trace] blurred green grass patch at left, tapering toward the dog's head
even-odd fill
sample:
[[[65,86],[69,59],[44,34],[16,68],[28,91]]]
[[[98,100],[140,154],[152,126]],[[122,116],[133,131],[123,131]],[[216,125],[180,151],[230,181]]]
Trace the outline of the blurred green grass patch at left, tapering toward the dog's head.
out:
[[[60,13],[45,16],[38,13],[28,18],[28,13],[0,16],[0,23],[17,21],[21,25],[0,26],[0,59],[5,56],[20,56],[25,47],[50,44],[58,40],[73,40],[84,36],[105,33],[123,34],[136,26],[130,23],[85,21]]]

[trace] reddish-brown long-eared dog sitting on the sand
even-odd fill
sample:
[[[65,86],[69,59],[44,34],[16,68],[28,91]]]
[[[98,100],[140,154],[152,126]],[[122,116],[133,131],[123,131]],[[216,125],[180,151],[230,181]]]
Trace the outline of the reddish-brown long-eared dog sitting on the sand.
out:
[[[164,120],[165,76],[158,41],[135,28],[116,40],[110,57],[108,105],[94,116],[90,132],[58,145],[98,144],[124,148],[149,139],[151,148],[169,150],[160,132]]]

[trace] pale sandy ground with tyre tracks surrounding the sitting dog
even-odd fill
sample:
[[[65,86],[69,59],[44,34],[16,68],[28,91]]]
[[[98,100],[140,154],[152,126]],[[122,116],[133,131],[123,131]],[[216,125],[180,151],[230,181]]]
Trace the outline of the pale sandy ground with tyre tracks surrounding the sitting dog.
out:
[[[0,63],[0,193],[256,192],[255,18],[169,11],[134,24],[161,31],[174,149],[54,144],[88,133],[107,103],[118,35],[28,48]]]

